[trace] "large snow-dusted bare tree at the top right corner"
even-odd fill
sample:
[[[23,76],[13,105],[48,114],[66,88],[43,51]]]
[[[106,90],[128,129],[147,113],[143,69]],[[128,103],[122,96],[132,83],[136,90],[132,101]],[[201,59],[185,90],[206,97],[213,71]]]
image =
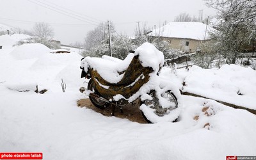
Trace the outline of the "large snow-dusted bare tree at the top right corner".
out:
[[[227,63],[236,63],[239,54],[251,44],[256,35],[256,0],[205,0],[207,6],[215,8],[219,23],[215,26],[216,50]]]

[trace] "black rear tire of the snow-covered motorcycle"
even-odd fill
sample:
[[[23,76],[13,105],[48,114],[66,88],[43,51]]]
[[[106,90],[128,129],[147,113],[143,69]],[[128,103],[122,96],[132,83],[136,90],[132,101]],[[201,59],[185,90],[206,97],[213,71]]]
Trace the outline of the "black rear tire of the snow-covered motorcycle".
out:
[[[87,86],[88,90],[91,90],[92,92],[95,92],[94,90],[94,82],[92,79],[90,79],[90,81],[88,82],[88,86]],[[99,95],[99,93],[95,92],[97,95]],[[99,108],[99,109],[105,109],[109,107],[109,103],[108,102],[104,102],[102,100],[99,100],[97,98],[91,97],[89,96],[89,99],[91,100],[92,104]]]

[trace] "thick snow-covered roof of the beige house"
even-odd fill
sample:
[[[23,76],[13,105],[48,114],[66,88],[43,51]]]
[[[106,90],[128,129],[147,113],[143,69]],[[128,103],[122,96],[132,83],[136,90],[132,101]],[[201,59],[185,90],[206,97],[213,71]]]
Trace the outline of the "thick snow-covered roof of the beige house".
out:
[[[206,28],[207,32],[205,35]],[[209,32],[211,31],[214,31],[214,29],[202,22],[169,22],[161,28],[153,29],[152,33],[149,33],[148,36],[205,40],[209,39]]]

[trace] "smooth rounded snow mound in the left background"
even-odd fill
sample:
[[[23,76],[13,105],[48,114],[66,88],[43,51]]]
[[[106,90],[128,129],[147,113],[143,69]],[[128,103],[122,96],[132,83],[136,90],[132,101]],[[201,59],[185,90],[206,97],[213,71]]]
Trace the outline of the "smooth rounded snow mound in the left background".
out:
[[[18,60],[27,60],[39,58],[50,51],[51,49],[43,44],[23,44],[10,52],[10,54]]]

